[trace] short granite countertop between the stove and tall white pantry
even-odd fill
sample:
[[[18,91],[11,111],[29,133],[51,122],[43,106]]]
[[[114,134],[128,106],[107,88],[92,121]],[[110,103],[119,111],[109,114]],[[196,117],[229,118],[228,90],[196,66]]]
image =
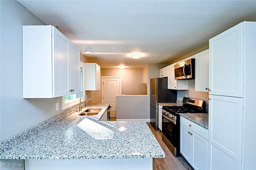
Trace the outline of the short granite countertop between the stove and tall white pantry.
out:
[[[192,122],[208,129],[208,114],[207,113],[180,113],[180,116],[191,120]]]

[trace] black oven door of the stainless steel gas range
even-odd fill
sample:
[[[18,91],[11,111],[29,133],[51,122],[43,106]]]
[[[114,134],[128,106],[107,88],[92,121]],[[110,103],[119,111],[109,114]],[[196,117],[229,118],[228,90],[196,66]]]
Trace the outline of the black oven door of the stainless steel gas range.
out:
[[[162,114],[162,133],[175,148],[179,147],[180,143],[179,126],[179,123],[174,124],[173,120],[170,120],[164,114]]]

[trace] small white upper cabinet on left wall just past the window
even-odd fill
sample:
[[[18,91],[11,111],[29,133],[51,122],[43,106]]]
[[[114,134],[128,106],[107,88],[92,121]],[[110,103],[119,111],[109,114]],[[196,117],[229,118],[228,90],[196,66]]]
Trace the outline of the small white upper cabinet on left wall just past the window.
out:
[[[84,66],[84,90],[100,90],[100,66],[97,63],[84,63]]]

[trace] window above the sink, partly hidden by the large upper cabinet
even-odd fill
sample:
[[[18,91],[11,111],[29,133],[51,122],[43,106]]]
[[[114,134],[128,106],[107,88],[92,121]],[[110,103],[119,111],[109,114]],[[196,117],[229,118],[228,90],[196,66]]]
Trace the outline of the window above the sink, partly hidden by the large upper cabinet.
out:
[[[80,89],[83,90],[83,63],[80,64]],[[62,109],[70,108],[79,103],[80,96],[83,96],[83,93],[71,94],[67,96],[62,96]]]

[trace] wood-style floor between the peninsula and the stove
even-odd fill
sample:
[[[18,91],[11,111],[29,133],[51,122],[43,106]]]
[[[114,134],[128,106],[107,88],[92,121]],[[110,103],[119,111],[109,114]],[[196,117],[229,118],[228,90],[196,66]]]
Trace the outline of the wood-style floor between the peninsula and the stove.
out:
[[[150,123],[147,124],[165,152],[165,158],[153,158],[153,170],[194,170],[185,158],[173,156],[162,140],[162,132],[155,130]]]

